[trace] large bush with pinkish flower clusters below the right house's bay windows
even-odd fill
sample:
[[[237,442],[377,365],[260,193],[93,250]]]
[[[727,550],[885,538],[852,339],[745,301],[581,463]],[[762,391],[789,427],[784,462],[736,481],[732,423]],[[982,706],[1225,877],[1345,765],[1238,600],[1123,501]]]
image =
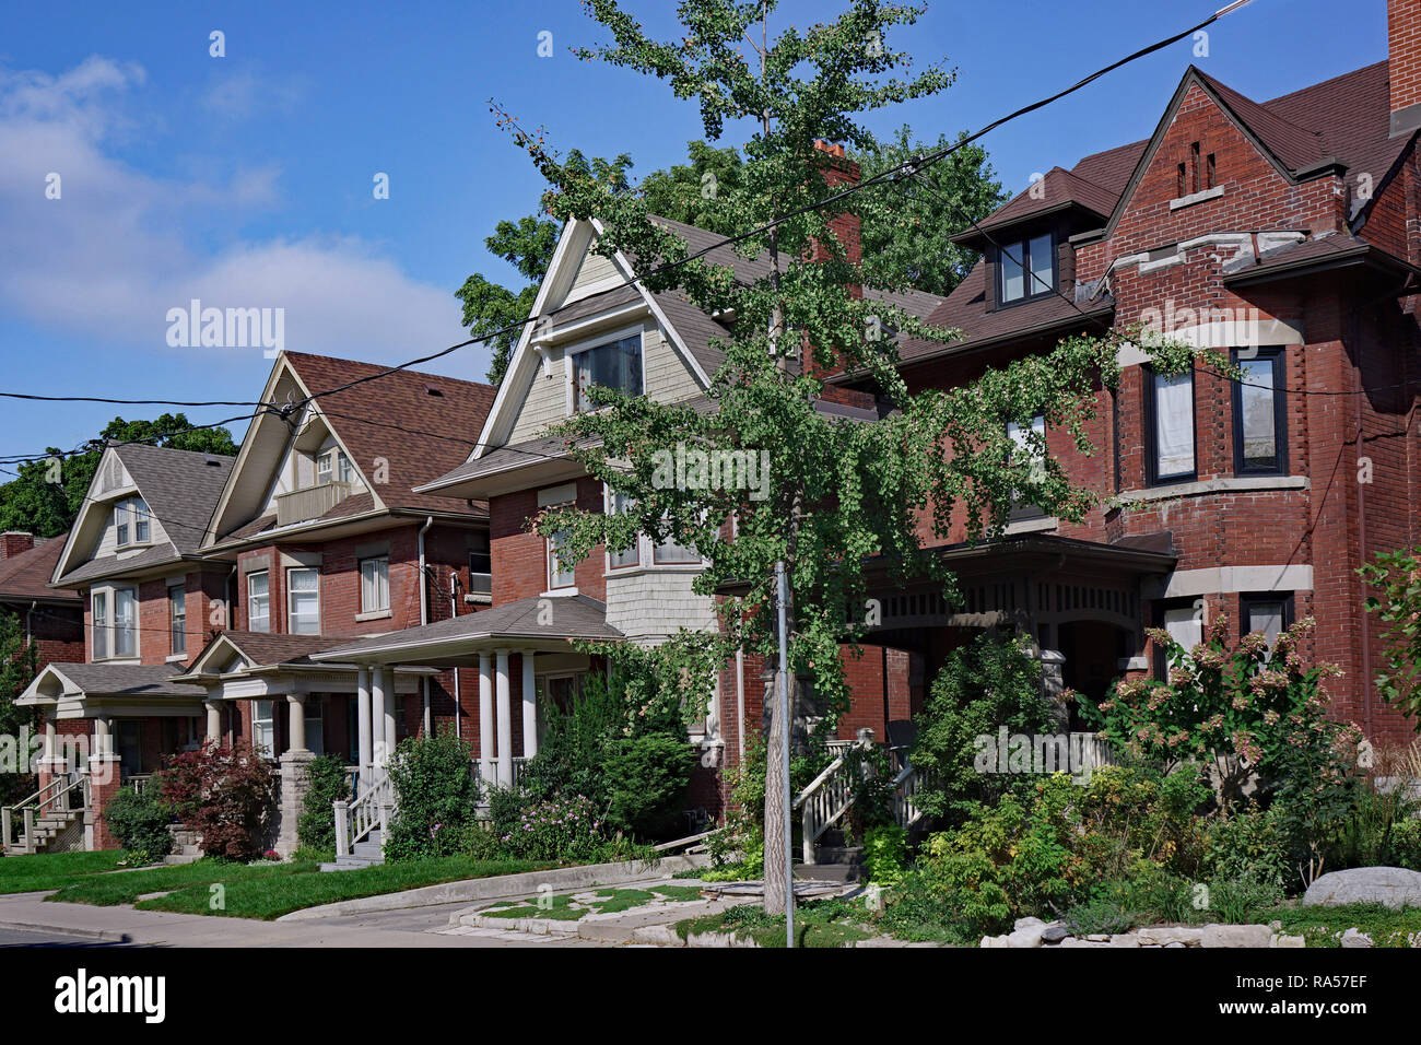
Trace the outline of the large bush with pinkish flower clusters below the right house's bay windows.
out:
[[[1314,783],[1336,781],[1356,763],[1361,729],[1326,717],[1323,680],[1339,670],[1303,661],[1299,644],[1313,626],[1297,621],[1272,648],[1260,633],[1229,648],[1223,614],[1194,650],[1151,630],[1164,647],[1168,681],[1120,682],[1097,708],[1098,727],[1137,758],[1167,766],[1212,762],[1221,803],[1236,800],[1255,773],[1265,789],[1296,785],[1299,773]]]

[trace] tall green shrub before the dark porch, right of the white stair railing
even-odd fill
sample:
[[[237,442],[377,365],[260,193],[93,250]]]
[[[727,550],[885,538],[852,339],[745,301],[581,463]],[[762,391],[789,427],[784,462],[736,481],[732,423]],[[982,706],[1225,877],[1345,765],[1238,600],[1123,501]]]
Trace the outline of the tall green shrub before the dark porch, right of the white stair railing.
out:
[[[918,715],[911,761],[921,785],[914,802],[931,816],[961,823],[979,803],[1029,788],[1020,773],[980,773],[978,736],[1056,732],[1042,692],[1042,665],[1025,640],[982,634],[948,657]]]

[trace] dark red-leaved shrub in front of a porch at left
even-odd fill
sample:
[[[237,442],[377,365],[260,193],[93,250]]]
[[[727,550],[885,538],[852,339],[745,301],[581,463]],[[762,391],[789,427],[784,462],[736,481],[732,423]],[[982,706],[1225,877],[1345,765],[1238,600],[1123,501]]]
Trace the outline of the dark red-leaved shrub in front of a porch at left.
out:
[[[252,860],[271,825],[276,781],[250,742],[213,744],[173,755],[159,775],[162,800],[178,820],[202,835],[202,852]]]

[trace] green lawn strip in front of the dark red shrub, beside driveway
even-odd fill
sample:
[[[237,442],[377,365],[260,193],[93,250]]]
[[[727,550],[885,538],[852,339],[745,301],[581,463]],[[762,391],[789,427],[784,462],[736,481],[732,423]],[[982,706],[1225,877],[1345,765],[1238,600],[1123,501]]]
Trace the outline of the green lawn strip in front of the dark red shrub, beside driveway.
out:
[[[198,864],[189,866],[196,867]],[[421,886],[438,886],[442,881],[487,879],[497,874],[546,870],[553,864],[533,863],[530,860],[470,860],[463,856],[450,856],[439,860],[384,863],[350,872],[320,872],[311,864],[303,866],[296,863],[274,866],[284,869],[286,873],[260,876],[209,874],[202,881],[188,881],[182,883],[182,886],[159,884],[156,887],[139,889],[139,893],[153,893],[159,889],[172,889],[176,891],[144,900],[138,904],[138,909],[145,911],[178,911],[180,914],[213,914],[229,918],[261,918],[270,921],[304,907],[317,907],[325,903],[337,903],[338,900],[398,893]],[[254,870],[254,867],[243,869],[239,866],[234,870]],[[223,884],[220,891],[210,889],[217,881]],[[215,901],[219,900],[220,906],[215,907]],[[81,903],[101,901],[81,900]],[[115,900],[112,903],[129,901]]]

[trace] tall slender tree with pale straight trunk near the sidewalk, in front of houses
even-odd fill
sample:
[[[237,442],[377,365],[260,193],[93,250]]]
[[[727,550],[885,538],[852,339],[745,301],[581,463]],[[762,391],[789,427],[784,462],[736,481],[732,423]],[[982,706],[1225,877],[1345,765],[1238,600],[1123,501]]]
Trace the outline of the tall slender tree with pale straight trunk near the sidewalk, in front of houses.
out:
[[[709,388],[712,411],[594,388],[590,398],[605,409],[578,412],[561,425],[576,439],[570,452],[628,498],[625,510],[550,509],[534,529],[557,542],[564,560],[584,557],[598,543],[631,547],[638,532],[695,546],[708,560],[695,590],[720,596],[715,643],[722,663],[737,647],[777,663],[773,566],[784,562],[789,671],[782,681],[791,708],[797,678],[806,675],[816,698],[841,711],[848,690],[840,645],[864,634],[864,610],[851,607],[865,606],[867,559],[887,563],[888,583],[935,577],[951,599],[955,586],[941,560],[924,552],[919,520],[938,542],[961,520],[969,539],[980,539],[999,535],[1012,505],[1022,500],[1071,520],[1096,503],[1049,456],[1044,438],[1032,435],[1016,446],[1006,425],[1015,421],[1032,431],[1032,418],[1044,415],[1047,425],[1088,448],[1084,424],[1100,382],[1117,378],[1118,338],[1067,338],[1050,353],[986,370],[971,384],[908,392],[895,368],[895,343],[880,330],[938,341],[949,341],[953,331],[929,328],[870,293],[904,286],[912,273],[860,263],[830,225],[845,213],[881,218],[901,203],[901,186],[884,181],[821,206],[843,189],[843,171],[816,142],[845,142],[864,152],[874,146],[860,122],[864,114],[951,85],[951,73],[938,65],[912,71],[908,55],[888,47],[890,30],[912,26],[919,9],[851,0],[837,18],[803,30],[790,26],[772,40],[770,0],[684,0],[682,37],[658,41],[615,0],[588,0],[587,7],[612,36],[588,55],[668,81],[678,98],[699,105],[712,142],[728,127],[753,128],[740,188],[722,193],[720,202],[730,227],[749,235],[737,249],[749,256],[759,250],[776,263],[749,279],[705,259],[689,260],[685,242],[652,220],[645,199],[608,192],[558,162],[541,138],[507,124],[553,185],[544,203],[554,218],[597,218],[605,227],[600,253],[637,259],[652,290],[681,287],[705,311],[735,316]],[[1188,361],[1187,353],[1160,351],[1154,358],[1164,373]],[[837,367],[861,370],[894,409],[874,422],[817,409],[823,375]],[[672,469],[678,449],[686,466]],[[708,468],[715,461],[722,465],[719,483]],[[726,462],[757,465],[759,482],[752,489],[739,482],[749,478],[745,468],[732,468],[736,478],[728,481]],[[682,633],[658,647],[658,655],[688,657],[705,641],[703,634]],[[786,810],[774,756],[790,721],[793,711],[786,721],[772,702],[764,791],[770,913],[793,904],[779,859]]]

